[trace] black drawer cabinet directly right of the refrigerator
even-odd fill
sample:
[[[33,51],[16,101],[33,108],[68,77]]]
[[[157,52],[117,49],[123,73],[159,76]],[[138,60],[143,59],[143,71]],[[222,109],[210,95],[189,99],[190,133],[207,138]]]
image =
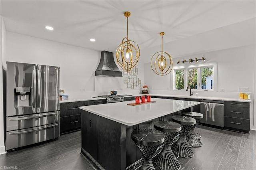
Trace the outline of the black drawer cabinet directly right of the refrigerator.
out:
[[[88,106],[89,101],[60,103],[60,134],[81,129],[80,106]]]

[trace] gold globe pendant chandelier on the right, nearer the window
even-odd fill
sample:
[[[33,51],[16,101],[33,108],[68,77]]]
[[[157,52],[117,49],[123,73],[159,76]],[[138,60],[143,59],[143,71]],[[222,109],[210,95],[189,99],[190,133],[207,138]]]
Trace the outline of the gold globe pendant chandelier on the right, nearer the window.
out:
[[[164,32],[160,32],[160,36],[162,36],[162,51],[156,52],[150,61],[152,70],[157,75],[161,76],[168,75],[172,71],[173,67],[172,57],[163,51],[163,35]],[[170,62],[168,60],[170,60]]]

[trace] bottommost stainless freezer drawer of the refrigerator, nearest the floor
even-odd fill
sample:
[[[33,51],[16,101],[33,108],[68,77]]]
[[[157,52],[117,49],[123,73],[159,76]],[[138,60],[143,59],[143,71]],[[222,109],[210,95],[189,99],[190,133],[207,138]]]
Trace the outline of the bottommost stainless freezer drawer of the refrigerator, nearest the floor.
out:
[[[6,150],[43,142],[59,136],[59,123],[6,132]]]

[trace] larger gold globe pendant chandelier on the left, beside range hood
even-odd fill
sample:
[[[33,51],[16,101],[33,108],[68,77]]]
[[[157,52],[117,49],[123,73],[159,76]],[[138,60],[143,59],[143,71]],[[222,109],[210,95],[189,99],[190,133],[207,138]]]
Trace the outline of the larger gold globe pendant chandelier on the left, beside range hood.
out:
[[[127,18],[127,37],[123,38],[122,43],[117,47],[116,59],[118,65],[129,72],[139,61],[140,48],[136,42],[128,39],[128,17],[131,13],[124,12],[124,16]]]

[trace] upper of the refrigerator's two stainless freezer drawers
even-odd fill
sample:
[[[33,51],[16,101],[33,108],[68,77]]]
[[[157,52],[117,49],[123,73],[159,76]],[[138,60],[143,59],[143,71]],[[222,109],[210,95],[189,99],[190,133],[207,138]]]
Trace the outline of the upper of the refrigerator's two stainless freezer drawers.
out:
[[[38,127],[60,121],[59,111],[32,115],[6,117],[6,131]]]

